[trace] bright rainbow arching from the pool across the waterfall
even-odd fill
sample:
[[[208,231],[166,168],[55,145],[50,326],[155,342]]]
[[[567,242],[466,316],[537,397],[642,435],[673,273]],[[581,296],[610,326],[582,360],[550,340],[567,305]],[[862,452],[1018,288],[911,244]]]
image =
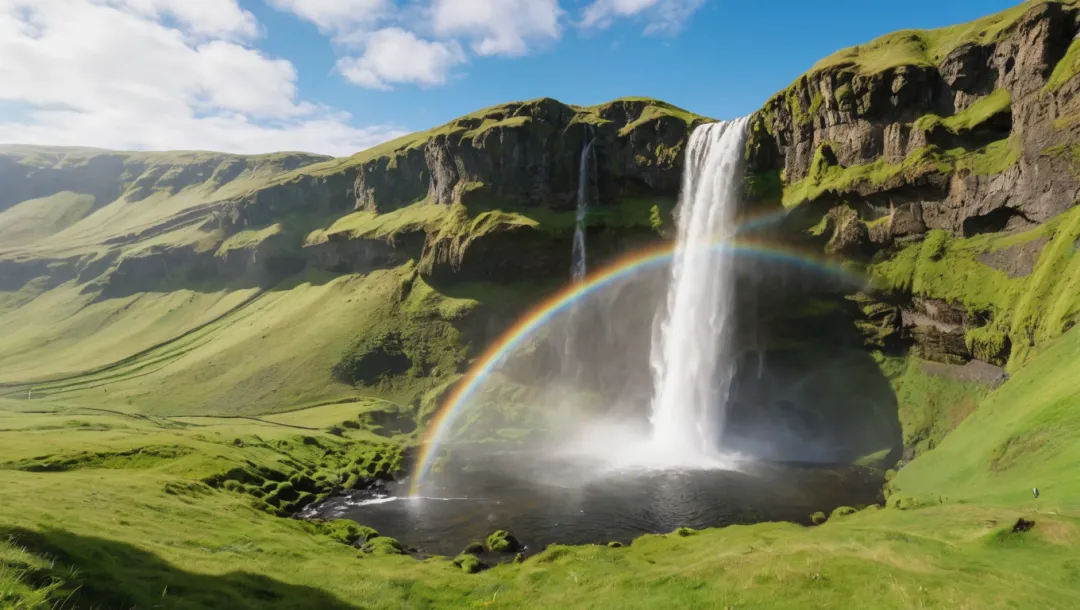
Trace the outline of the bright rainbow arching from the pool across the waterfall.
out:
[[[780,246],[750,242],[725,242],[717,243],[712,248],[732,256],[764,258],[816,272],[824,272],[856,284],[863,281],[858,274],[836,263]],[[453,428],[458,416],[464,410],[463,406],[476,390],[480,389],[488,375],[515,348],[534,336],[548,322],[568,311],[579,300],[615,282],[630,277],[634,273],[665,265],[673,256],[674,244],[671,243],[631,253],[590,274],[584,281],[566,286],[519,317],[513,326],[481,354],[472,368],[458,381],[454,391],[428,424],[428,430],[420,445],[420,451],[413,470],[410,496],[418,496],[420,483],[430,472],[440,444]]]

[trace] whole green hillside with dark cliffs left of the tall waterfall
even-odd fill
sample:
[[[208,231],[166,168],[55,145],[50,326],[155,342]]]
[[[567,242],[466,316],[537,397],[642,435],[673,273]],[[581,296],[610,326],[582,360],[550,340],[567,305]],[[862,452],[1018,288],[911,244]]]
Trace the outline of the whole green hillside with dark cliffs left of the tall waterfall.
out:
[[[598,138],[603,260],[658,239],[650,209],[673,206],[700,120],[651,100],[541,99],[337,160],[4,149],[18,188],[0,232],[18,239],[0,248],[0,388],[63,404],[111,391],[162,414],[283,410],[375,385],[417,401],[569,269],[578,177],[562,147]],[[405,335],[402,369],[334,374],[388,334]]]

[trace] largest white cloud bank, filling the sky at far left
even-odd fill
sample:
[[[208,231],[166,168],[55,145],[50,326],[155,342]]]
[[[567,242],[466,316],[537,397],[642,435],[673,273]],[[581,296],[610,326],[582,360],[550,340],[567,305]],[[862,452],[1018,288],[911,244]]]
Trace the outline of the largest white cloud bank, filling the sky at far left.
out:
[[[211,9],[214,9],[212,11]],[[235,0],[0,0],[0,140],[348,154],[399,134],[298,98]]]

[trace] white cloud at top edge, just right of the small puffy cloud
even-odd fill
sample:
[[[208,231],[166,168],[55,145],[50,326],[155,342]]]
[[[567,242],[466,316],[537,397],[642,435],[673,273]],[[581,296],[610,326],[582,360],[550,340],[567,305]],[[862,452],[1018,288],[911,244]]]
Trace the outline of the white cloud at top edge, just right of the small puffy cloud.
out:
[[[524,55],[532,43],[557,40],[558,0],[434,0],[435,31],[464,36],[480,55]]]

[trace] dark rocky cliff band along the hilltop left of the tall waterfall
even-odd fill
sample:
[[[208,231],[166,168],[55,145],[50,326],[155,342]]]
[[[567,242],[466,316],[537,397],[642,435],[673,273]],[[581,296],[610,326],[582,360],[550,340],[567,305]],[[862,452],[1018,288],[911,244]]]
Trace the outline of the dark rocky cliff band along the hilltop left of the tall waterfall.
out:
[[[441,204],[568,208],[578,189],[578,158],[596,138],[600,201],[674,196],[680,152],[704,119],[654,100],[589,108],[544,98],[507,104],[408,136],[372,158],[356,158],[356,209],[389,212],[420,200]],[[390,145],[386,145],[390,146]]]

